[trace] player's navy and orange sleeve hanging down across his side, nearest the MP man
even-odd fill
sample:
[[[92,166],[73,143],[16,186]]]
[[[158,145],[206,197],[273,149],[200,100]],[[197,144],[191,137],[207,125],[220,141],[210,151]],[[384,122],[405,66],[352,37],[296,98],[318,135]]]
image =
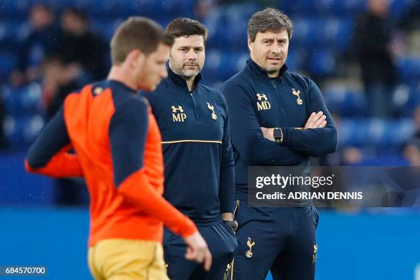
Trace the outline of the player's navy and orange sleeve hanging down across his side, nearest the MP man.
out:
[[[148,124],[148,106],[140,99],[127,102],[113,115],[109,137],[115,187],[126,200],[163,221],[171,231],[188,237],[197,232],[194,223],[170,205],[145,174],[144,150]]]

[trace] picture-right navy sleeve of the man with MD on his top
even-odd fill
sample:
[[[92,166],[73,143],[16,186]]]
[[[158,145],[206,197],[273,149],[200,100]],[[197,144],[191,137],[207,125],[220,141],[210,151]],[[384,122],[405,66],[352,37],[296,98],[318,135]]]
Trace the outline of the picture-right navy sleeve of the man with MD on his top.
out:
[[[322,156],[335,152],[337,149],[337,130],[323,96],[318,86],[310,80],[310,113],[323,111],[327,117],[327,125],[324,128],[281,128],[283,131],[283,145],[292,150],[302,152],[308,156]]]

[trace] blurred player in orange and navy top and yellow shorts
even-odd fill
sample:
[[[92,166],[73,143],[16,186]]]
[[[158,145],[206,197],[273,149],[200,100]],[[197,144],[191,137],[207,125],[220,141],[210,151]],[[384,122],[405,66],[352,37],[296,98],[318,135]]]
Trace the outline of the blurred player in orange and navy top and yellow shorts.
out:
[[[161,135],[147,101],[136,96],[167,76],[172,43],[150,19],[124,22],[110,43],[108,79],[71,93],[27,154],[30,172],[86,179],[95,279],[167,279],[163,224],[184,238],[187,259],[211,265],[194,223],[162,197]]]

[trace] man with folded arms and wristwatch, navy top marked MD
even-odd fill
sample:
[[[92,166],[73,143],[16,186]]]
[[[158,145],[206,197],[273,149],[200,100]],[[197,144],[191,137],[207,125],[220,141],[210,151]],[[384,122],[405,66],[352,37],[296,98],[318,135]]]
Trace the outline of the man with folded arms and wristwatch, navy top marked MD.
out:
[[[233,279],[314,279],[318,213],[311,200],[290,207],[248,207],[247,168],[297,165],[336,150],[337,132],[320,90],[288,71],[292,22],[267,8],[248,21],[250,59],[222,85],[235,153],[238,248]]]

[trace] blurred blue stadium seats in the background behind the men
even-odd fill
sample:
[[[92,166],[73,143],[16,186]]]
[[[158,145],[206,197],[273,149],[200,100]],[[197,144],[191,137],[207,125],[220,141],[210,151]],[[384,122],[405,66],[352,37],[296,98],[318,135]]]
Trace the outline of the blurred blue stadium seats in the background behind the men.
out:
[[[106,40],[126,16],[154,15],[165,25],[176,16],[194,16],[194,0],[43,0],[55,10],[66,6],[85,7],[91,16],[91,26]],[[27,32],[26,16],[30,0],[3,0],[0,5],[0,79],[16,67],[16,49]],[[406,12],[410,0],[392,1],[391,16]],[[314,77],[335,77],[338,60],[347,54],[353,37],[353,20],[364,12],[365,0],[294,0],[281,1],[279,8],[294,22],[288,66]],[[203,75],[207,84],[220,86],[239,71],[246,59],[246,22],[255,10],[254,1],[220,5],[202,20],[209,29],[207,60]],[[399,147],[410,136],[413,125],[407,117],[420,104],[420,57],[406,56],[397,61],[400,85],[394,101],[400,120],[365,119],[366,97],[351,86],[327,87],[323,94],[333,112],[343,117],[340,125],[340,145]],[[40,110],[40,86],[30,84],[16,89],[5,85],[1,89],[8,118],[6,132],[11,148],[24,150],[43,125]],[[392,149],[390,149],[392,150]],[[397,153],[397,152],[396,152]]]

